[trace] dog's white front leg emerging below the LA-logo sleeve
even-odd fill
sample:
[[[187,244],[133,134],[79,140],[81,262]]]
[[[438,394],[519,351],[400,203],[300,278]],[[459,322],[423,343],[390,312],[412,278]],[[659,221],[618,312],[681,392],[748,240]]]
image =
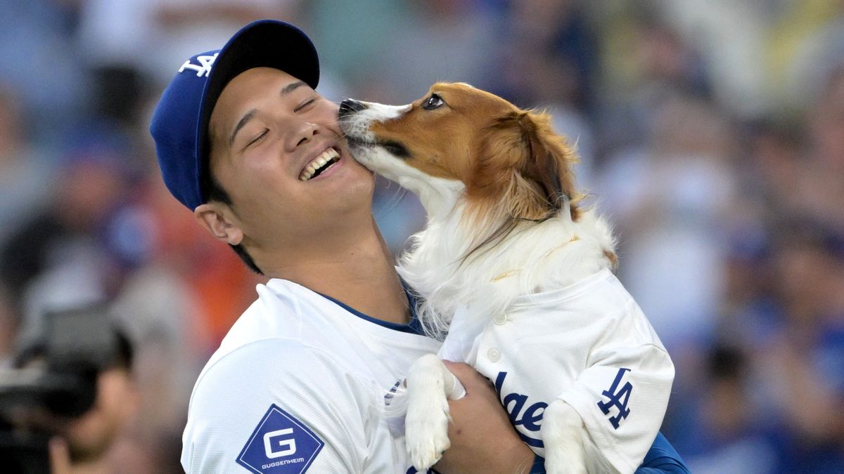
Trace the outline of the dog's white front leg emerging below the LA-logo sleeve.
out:
[[[549,474],[585,474],[583,420],[568,403],[552,401],[542,417],[545,471]]]

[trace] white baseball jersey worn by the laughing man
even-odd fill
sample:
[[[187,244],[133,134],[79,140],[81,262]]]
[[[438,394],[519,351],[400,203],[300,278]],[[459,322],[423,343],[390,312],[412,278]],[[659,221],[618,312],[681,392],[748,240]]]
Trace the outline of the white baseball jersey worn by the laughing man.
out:
[[[392,401],[439,343],[288,281],[257,292],[193,388],[185,470],[415,472]]]

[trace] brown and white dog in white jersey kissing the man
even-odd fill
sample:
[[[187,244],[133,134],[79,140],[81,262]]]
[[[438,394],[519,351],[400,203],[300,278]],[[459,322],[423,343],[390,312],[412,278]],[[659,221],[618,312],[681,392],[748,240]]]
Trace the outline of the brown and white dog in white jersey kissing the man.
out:
[[[345,100],[340,124],[355,159],[413,191],[425,207],[427,225],[398,272],[422,297],[426,331],[445,337],[439,355],[462,358],[492,380],[497,374],[511,421],[521,423],[522,439],[545,456],[549,472],[633,471],[662,423],[674,367],[609,272],[617,263],[609,225],[582,206],[576,154],[549,116],[465,83],[436,83],[410,105]],[[587,292],[560,298],[574,302],[568,310],[555,304],[528,310],[529,317],[513,312],[525,299],[553,299],[590,278],[599,281],[594,291],[609,296]],[[592,314],[616,300],[623,308]],[[498,322],[508,314],[511,334],[559,344],[534,350],[526,347],[539,346],[514,342],[479,355],[490,340],[507,339],[495,334],[504,334]],[[543,377],[550,378],[543,388],[532,385]],[[505,396],[507,378],[521,382]],[[446,397],[462,387],[433,354],[414,364],[407,383],[408,454],[424,471],[449,447]],[[522,393],[526,387],[533,392]],[[539,401],[519,420],[527,400]]]

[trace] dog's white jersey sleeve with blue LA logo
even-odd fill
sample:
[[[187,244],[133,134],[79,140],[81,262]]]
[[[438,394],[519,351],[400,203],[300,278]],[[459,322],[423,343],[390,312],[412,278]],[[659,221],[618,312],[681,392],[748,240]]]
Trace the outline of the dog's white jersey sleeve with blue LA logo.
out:
[[[630,472],[663,423],[674,364],[639,305],[614,277],[608,281],[603,294],[618,300],[592,326],[587,368],[559,398],[583,419],[587,459],[600,471]]]

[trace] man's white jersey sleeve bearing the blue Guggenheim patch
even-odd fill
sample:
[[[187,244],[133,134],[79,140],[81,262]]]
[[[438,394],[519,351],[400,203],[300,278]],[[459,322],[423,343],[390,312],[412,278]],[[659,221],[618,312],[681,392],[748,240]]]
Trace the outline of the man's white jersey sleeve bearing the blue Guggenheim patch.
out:
[[[390,472],[392,443],[371,387],[331,354],[252,342],[197,382],[183,434],[188,473]]]

